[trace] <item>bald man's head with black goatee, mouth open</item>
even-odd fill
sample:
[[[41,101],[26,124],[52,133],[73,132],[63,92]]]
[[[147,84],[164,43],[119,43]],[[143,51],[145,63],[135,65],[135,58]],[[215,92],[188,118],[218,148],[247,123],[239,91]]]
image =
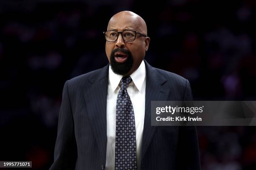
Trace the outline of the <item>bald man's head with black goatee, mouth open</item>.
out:
[[[118,33],[116,41],[106,41],[106,54],[113,72],[119,75],[131,75],[140,66],[145,53],[148,50],[150,38],[147,37],[147,26],[145,21],[131,11],[122,11],[115,14],[108,23],[108,31],[123,32],[125,30],[135,31],[134,41],[125,41],[131,33]],[[115,37],[117,32],[108,32],[108,36]],[[137,32],[137,33],[136,33]],[[123,40],[123,37],[125,40]],[[115,38],[113,39],[115,40]]]

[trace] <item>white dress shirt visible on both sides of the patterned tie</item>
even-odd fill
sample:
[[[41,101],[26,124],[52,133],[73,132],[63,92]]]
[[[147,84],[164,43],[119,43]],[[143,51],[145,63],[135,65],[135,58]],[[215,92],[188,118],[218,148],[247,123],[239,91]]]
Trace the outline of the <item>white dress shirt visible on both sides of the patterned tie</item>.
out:
[[[146,95],[146,67],[144,61],[131,75],[132,82],[127,87],[131,98],[135,117],[136,128],[136,156],[137,167],[141,170],[141,145],[145,115]],[[122,75],[116,75],[111,67],[108,71],[108,95],[107,95],[107,154],[106,170],[115,170],[115,110],[117,95],[121,87]]]

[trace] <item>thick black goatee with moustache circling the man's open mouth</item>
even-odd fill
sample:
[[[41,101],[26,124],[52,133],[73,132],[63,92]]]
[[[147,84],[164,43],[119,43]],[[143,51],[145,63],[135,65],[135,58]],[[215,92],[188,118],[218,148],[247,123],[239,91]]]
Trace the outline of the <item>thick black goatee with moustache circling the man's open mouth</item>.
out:
[[[115,52],[123,52],[127,55],[125,62],[115,61]],[[110,55],[110,66],[113,72],[117,75],[127,75],[133,66],[133,55],[129,50],[123,48],[115,48]]]

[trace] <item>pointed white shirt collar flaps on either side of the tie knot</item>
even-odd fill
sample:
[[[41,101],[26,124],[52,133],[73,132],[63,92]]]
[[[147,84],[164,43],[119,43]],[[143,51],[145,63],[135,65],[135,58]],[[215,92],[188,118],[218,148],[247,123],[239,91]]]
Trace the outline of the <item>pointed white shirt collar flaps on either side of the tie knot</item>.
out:
[[[111,69],[111,66],[109,67],[110,68],[108,69],[108,81],[109,81],[109,85],[111,86],[111,89],[114,92],[118,87],[123,75],[115,74]],[[138,67],[138,69],[135,70],[130,76],[133,80],[134,85],[137,87],[139,91],[141,91],[143,81],[145,80],[145,77],[146,77],[146,67],[143,60],[141,62],[141,65]]]

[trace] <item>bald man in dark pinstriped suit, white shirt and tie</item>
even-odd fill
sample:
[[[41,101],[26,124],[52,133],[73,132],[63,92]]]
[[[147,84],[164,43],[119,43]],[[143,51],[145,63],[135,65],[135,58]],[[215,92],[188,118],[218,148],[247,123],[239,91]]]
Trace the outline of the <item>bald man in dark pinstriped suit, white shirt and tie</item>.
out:
[[[192,100],[188,80],[143,60],[137,14],[115,14],[104,34],[110,65],[64,85],[50,170],[199,170],[195,127],[151,126],[151,101]]]

